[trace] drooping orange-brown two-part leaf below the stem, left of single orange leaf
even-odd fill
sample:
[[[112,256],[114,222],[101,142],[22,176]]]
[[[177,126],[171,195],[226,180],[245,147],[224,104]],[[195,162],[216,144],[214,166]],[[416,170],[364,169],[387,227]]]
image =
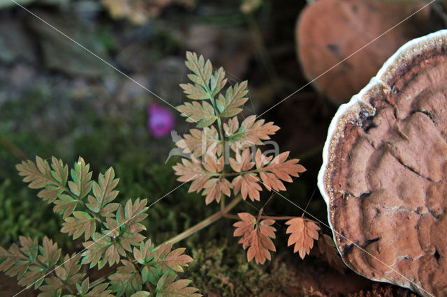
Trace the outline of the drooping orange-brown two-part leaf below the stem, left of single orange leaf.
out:
[[[271,225],[274,220],[262,220],[257,222],[256,218],[249,213],[238,213],[241,219],[233,224],[236,227],[233,236],[242,236],[239,243],[247,250],[247,260],[255,259],[256,263],[264,264],[265,260],[271,259],[270,251],[275,252],[271,238],[275,238],[276,229]]]

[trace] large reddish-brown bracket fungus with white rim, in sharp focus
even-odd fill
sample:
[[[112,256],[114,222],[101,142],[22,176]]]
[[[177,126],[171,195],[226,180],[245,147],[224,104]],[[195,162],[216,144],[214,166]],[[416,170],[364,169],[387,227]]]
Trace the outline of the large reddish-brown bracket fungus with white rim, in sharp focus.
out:
[[[318,188],[345,264],[447,296],[447,30],[416,38],[339,107]]]

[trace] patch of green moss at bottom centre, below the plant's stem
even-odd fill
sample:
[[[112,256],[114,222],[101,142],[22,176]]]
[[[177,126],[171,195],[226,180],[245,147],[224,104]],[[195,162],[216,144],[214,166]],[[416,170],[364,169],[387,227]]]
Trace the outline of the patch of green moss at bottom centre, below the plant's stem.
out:
[[[279,294],[288,287],[285,264],[247,263],[247,256],[236,238],[199,243],[191,252],[194,262],[185,273],[202,294],[221,296],[260,296]]]

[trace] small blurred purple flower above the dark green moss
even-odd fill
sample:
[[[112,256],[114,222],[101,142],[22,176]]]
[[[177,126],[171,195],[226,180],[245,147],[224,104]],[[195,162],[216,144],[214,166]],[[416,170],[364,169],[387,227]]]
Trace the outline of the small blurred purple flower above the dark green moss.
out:
[[[155,137],[168,135],[174,128],[174,116],[166,107],[152,103],[147,109],[149,120],[147,128]]]

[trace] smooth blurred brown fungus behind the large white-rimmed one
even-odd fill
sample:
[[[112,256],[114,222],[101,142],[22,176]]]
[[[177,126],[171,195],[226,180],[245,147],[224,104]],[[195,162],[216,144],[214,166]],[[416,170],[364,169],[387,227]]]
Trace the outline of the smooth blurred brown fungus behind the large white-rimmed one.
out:
[[[395,26],[422,7],[417,1],[311,1],[296,28],[297,52],[307,79],[318,77],[314,86],[335,104],[347,102],[400,46],[427,33],[429,8]]]

